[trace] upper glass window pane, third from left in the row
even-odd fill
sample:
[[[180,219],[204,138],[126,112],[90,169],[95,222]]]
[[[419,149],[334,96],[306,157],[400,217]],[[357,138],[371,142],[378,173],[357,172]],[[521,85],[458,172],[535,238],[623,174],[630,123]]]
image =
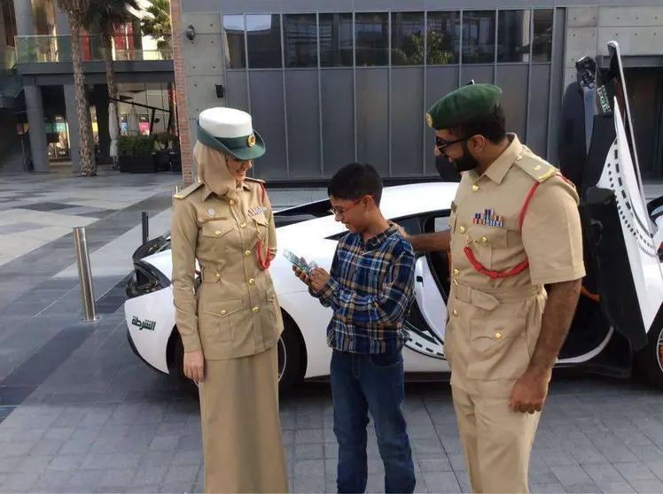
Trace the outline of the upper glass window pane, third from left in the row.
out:
[[[317,66],[316,14],[283,16],[286,67]]]

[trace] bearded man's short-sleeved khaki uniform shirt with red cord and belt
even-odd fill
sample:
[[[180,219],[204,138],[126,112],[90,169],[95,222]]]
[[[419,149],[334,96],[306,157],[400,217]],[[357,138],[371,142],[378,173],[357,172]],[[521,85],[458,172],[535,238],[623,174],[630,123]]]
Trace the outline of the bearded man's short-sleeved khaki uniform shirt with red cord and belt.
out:
[[[585,275],[573,184],[516,135],[509,138],[510,146],[484,174],[463,175],[449,218],[445,353],[451,384],[495,398],[508,397],[529,365],[541,329],[543,285]],[[503,274],[525,261],[527,267],[509,276],[478,270]]]

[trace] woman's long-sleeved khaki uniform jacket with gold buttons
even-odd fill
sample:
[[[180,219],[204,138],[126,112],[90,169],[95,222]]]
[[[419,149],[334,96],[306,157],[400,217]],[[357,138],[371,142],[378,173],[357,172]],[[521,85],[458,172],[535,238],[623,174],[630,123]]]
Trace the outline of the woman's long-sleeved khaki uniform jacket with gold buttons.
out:
[[[228,196],[201,182],[175,195],[172,282],[184,351],[202,348],[212,360],[245,357],[274,346],[283,331],[269,271],[256,255],[258,237],[263,261],[277,252],[274,215],[261,195],[261,184],[250,179]]]

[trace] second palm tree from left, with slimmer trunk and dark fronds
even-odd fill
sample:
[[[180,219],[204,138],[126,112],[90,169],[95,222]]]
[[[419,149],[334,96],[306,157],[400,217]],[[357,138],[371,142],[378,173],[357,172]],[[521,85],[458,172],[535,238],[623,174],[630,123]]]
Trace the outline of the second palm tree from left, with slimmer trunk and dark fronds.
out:
[[[108,96],[115,107],[115,115],[120,118],[117,111],[117,81],[113,67],[113,32],[123,26],[131,17],[130,10],[139,10],[136,0],[90,0],[90,8],[85,19],[86,26],[98,26],[101,31],[102,53],[105,61],[105,80],[108,86]],[[117,122],[120,127],[120,120]],[[113,169],[118,167],[118,157],[113,156]]]

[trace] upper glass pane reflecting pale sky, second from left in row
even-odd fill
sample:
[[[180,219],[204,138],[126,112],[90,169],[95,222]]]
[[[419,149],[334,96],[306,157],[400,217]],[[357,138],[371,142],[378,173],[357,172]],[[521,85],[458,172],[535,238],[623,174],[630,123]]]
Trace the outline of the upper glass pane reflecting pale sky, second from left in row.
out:
[[[278,14],[246,16],[249,68],[281,68],[281,21]]]

